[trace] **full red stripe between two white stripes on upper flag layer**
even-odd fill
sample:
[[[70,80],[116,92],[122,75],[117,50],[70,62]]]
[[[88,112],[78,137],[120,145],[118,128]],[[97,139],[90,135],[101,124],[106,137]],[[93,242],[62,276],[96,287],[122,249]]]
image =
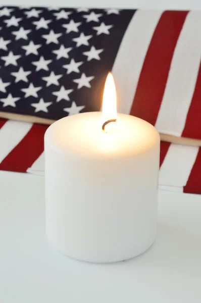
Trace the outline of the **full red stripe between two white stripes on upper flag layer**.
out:
[[[188,12],[162,14],[142,66],[130,114],[155,125],[174,49]]]

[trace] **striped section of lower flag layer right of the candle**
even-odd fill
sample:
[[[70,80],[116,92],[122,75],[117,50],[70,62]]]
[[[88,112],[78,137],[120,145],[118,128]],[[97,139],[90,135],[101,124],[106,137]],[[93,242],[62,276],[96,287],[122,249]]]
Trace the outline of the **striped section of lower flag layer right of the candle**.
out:
[[[159,188],[201,193],[201,147],[161,142]]]

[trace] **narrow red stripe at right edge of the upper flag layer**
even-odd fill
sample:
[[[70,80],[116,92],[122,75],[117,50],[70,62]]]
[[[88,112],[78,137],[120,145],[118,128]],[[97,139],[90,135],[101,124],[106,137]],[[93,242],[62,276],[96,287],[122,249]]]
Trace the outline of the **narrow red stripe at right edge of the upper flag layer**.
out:
[[[201,139],[201,65],[197,75],[197,81],[192,96],[191,104],[186,117],[186,123],[182,137]]]

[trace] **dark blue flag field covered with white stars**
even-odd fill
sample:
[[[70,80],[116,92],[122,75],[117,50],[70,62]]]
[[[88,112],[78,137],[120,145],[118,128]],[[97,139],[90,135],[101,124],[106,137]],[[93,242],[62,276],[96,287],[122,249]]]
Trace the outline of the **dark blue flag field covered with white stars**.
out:
[[[99,111],[106,75],[133,14],[3,7],[0,110],[50,120]]]

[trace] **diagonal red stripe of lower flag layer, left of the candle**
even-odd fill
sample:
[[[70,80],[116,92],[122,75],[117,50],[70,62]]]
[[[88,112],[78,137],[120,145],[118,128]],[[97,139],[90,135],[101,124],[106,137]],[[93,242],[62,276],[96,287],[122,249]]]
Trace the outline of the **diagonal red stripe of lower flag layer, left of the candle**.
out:
[[[20,143],[0,164],[0,170],[26,172],[44,150],[47,125],[34,124]]]

